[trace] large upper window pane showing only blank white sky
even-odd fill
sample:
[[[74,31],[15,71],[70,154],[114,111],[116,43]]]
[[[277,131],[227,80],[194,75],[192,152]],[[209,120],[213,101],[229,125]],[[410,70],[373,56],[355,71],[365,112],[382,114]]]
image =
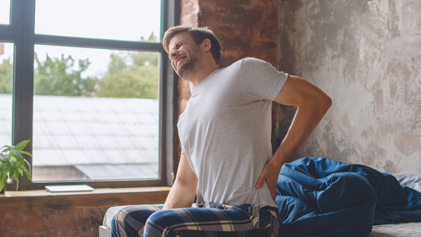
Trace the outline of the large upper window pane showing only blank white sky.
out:
[[[159,41],[161,1],[37,0],[35,33]]]

